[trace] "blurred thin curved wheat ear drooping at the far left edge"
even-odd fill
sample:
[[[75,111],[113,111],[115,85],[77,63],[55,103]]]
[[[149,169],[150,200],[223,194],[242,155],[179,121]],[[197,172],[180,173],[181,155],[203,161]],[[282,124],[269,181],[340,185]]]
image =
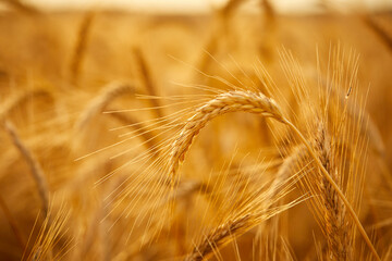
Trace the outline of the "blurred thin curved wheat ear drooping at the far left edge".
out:
[[[12,123],[9,121],[4,122],[4,128],[7,133],[10,135],[12,142],[21,152],[22,157],[25,159],[28,166],[30,167],[33,178],[37,184],[39,197],[41,198],[42,201],[42,210],[46,216],[48,214],[48,208],[49,208],[49,189],[42,169],[39,165],[38,161],[35,159],[35,157],[33,156],[32,151],[29,151],[27,147],[23,144]]]

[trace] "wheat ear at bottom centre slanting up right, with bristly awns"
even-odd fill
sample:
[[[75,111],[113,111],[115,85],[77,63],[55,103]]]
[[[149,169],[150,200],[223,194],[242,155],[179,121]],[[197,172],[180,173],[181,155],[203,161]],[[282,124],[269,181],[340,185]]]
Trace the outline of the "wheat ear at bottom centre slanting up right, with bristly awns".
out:
[[[219,249],[231,241],[235,241],[236,238],[249,232],[253,227],[260,225],[272,216],[286,211],[304,200],[304,198],[299,198],[286,204],[278,204],[278,202],[292,190],[295,184],[296,175],[289,177],[286,176],[286,171],[279,172],[279,175],[282,175],[280,177],[264,175],[264,173],[260,175],[259,167],[255,167],[254,170],[238,169],[236,171],[240,172],[237,176],[238,179],[231,181],[229,187],[220,191],[222,195],[225,195],[225,189],[228,189],[233,194],[233,198],[225,197],[224,200],[219,202],[216,202],[216,199],[211,200],[216,202],[213,203],[216,206],[213,208],[219,216],[218,225],[198,240],[184,260],[207,260],[212,254],[217,254]],[[252,173],[244,175],[243,171],[250,171]],[[223,176],[223,179],[228,177],[226,175],[230,174],[218,174],[220,177]],[[255,182],[254,178],[257,179],[257,182]],[[249,183],[254,183],[255,187],[249,185]],[[215,190],[220,189],[215,187]],[[218,198],[218,196],[213,197]],[[228,206],[229,208],[222,208],[222,206]]]

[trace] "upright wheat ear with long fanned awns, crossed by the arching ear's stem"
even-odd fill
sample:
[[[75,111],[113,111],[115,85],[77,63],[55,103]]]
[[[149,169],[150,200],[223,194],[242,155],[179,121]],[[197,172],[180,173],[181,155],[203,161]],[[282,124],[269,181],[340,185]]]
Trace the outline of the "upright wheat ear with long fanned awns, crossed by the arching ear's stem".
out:
[[[307,79],[292,53],[285,51],[282,57],[285,74],[297,101],[295,105],[305,109],[301,113],[303,116],[296,117],[295,123],[304,128],[307,141],[301,137],[302,133],[296,126],[291,127],[302,141],[305,140],[303,142],[308,148],[309,154],[299,161],[299,165],[306,165],[309,160],[318,158],[311,163],[313,169],[302,185],[306,192],[315,196],[309,200],[310,209],[326,236],[328,245],[324,252],[328,252],[328,257],[336,260],[354,258],[352,248],[356,245],[351,235],[355,234],[356,226],[373,257],[379,260],[355,214],[359,211],[363,198],[367,146],[369,142],[370,147],[378,147],[379,145],[375,146],[375,136],[371,136],[378,135],[369,133],[364,98],[358,91],[354,91],[358,85],[358,57],[351,50],[346,58],[340,46],[330,50],[329,55],[327,77],[323,77],[318,64],[318,80],[311,85],[313,88],[306,88]],[[313,77],[316,78],[315,75]],[[318,88],[314,88],[316,85]],[[287,123],[290,124],[293,122]]]

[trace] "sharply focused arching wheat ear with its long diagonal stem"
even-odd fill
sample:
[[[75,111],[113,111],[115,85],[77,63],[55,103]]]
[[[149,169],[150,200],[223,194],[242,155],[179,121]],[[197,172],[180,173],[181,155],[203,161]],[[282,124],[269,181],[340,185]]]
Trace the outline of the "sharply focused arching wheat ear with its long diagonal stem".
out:
[[[351,203],[348,202],[340,187],[336,185],[336,183],[332,179],[331,175],[324,169],[309,142],[305,139],[304,135],[296,128],[296,126],[283,115],[277,102],[273,99],[266,97],[261,92],[245,90],[228,91],[218,95],[215,99],[211,99],[196,110],[193,116],[191,116],[186,121],[177,138],[174,139],[171,145],[169,174],[172,175],[173,185],[175,184],[175,179],[177,178],[176,172],[179,169],[179,164],[184,160],[186,151],[188,150],[196,135],[201,130],[204,126],[206,126],[209,121],[229,112],[250,112],[254,114],[262,115],[265,117],[272,117],[287,125],[296,134],[299,140],[306,146],[311,158],[320,167],[322,175],[335,189],[339,198],[347,208],[351,216],[353,217],[355,224],[359,229],[359,233],[363,235],[372,254],[377,260],[380,260],[373,245],[371,244],[368,235],[366,234],[366,231],[363,227]]]

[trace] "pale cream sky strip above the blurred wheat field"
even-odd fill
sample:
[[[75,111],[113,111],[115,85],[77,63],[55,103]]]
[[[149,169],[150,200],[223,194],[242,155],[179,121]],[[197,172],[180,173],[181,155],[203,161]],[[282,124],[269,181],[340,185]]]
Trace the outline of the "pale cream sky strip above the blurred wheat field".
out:
[[[224,4],[226,0],[24,0],[39,8],[48,10],[114,8],[121,10],[137,10],[144,12],[170,13],[206,13],[213,7]],[[258,0],[249,0],[249,5],[257,4]],[[270,0],[278,11],[311,12],[322,0]],[[324,0],[326,1],[326,0]],[[392,0],[327,0],[336,8],[347,9],[370,8],[392,9]]]

